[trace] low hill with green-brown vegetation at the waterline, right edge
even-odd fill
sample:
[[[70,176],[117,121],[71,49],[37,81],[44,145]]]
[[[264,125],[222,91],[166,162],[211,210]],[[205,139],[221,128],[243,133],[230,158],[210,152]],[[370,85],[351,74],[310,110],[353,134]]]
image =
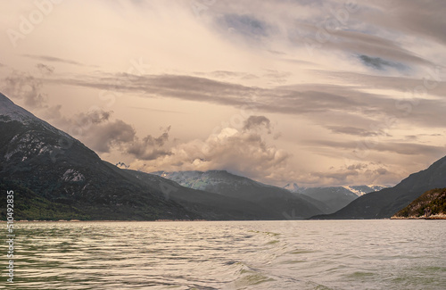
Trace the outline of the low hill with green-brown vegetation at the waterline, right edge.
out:
[[[429,212],[430,215],[446,214],[446,188],[435,188],[426,191],[415,201],[410,203],[401,211],[398,211],[395,218],[419,218]]]

